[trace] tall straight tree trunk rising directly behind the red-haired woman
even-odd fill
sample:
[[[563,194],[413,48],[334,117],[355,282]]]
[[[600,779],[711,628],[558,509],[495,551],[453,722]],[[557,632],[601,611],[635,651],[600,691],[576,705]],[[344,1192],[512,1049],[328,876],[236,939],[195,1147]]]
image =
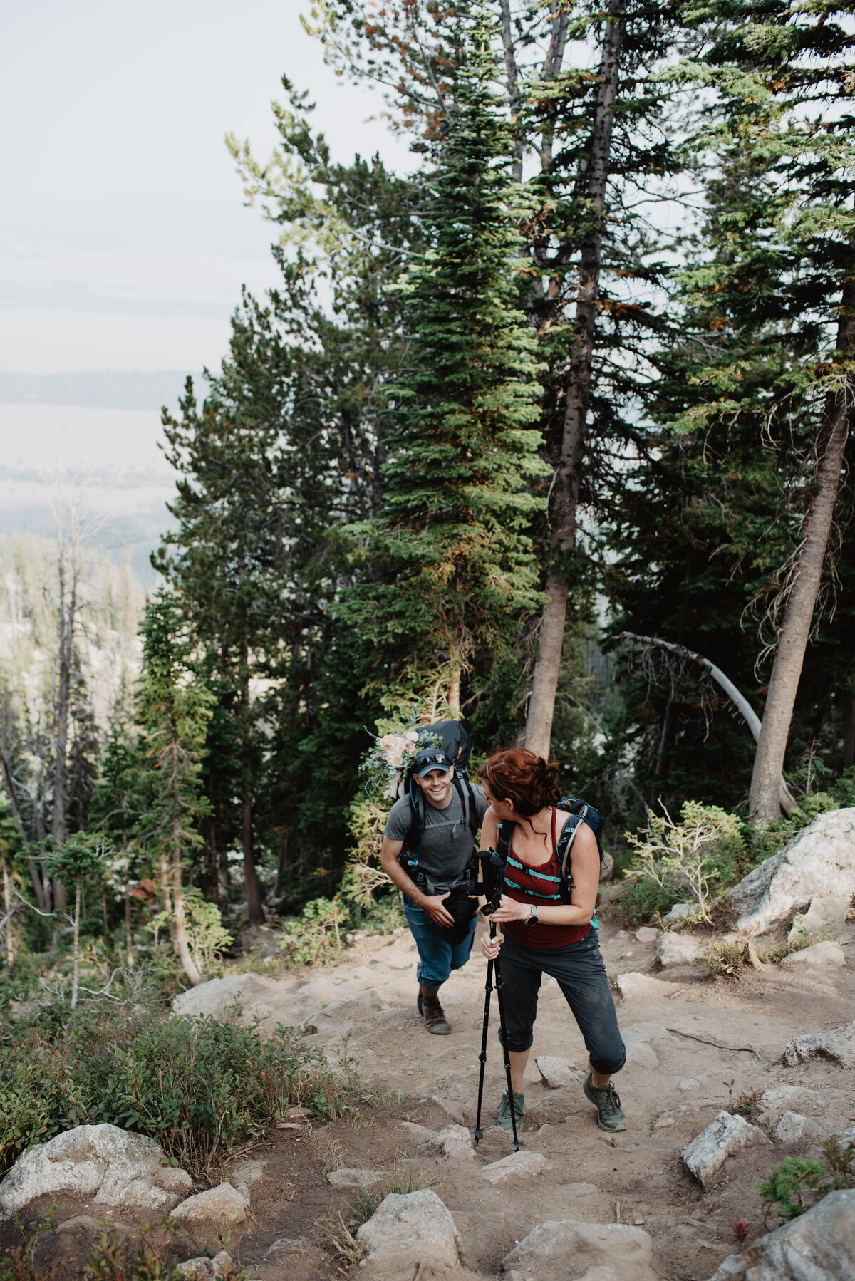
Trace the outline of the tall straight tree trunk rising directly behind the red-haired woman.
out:
[[[579,480],[585,450],[585,425],[591,397],[591,357],[594,354],[594,327],[596,297],[600,288],[600,259],[602,254],[604,210],[614,105],[618,95],[620,47],[624,35],[626,0],[610,0],[609,20],[602,38],[600,60],[600,88],[594,117],[588,160],[581,167],[578,195],[587,199],[591,218],[590,232],[582,241],[579,255],[576,320],[573,325],[573,355],[568,374],[567,406],[561,433],[560,455],[555,469],[552,492],[550,557],[554,564],[567,562],[576,547]],[[526,721],[526,747],[549,758],[551,751],[555,694],[561,665],[564,621],[567,617],[567,573],[552,570],[546,579],[546,605],[540,628],[538,656],[535,664],[532,697]]]

